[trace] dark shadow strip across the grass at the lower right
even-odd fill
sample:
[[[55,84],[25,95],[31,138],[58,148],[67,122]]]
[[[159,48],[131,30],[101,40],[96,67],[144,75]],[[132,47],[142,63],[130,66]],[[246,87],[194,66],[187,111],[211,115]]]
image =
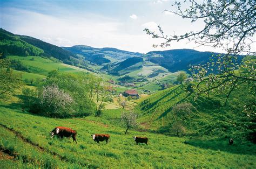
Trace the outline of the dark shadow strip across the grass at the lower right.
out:
[[[248,154],[256,156],[256,144],[250,142],[240,142],[239,140],[234,140],[234,144],[228,144],[228,139],[215,139],[215,140],[199,140],[190,139],[184,142],[185,144],[199,147],[201,149],[211,149],[214,151],[225,151],[235,154]]]

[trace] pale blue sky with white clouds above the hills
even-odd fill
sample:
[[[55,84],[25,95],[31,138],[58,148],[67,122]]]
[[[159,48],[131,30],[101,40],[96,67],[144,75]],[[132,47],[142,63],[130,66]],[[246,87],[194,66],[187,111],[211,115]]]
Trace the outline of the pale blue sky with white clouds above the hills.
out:
[[[178,48],[214,51],[186,40],[170,47],[153,48],[161,39],[152,39],[143,30],[165,34],[199,31],[203,22],[191,23],[165,10],[173,10],[172,0],[152,1],[43,1],[0,0],[0,27],[14,34],[41,39],[57,46],[88,45],[115,47],[147,53]]]

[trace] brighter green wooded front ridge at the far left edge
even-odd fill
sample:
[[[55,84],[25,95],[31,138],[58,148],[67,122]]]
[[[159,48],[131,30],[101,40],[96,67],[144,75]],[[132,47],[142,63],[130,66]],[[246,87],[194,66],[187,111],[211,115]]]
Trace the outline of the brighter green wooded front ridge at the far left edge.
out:
[[[5,55],[41,55],[41,48],[26,43],[19,36],[0,29],[0,52]]]

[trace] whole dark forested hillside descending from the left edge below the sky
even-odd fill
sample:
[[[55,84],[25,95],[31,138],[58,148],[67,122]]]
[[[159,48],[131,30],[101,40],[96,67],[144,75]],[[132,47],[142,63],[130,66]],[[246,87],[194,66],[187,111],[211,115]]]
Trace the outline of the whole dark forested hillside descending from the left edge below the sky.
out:
[[[0,52],[5,55],[42,55],[70,63],[76,55],[61,47],[29,36],[20,36],[0,29]],[[72,63],[71,63],[72,64]]]

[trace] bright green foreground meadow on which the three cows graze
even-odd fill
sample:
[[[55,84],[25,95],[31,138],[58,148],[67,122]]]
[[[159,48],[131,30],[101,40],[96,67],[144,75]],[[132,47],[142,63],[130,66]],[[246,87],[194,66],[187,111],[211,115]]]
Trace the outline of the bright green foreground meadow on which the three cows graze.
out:
[[[1,125],[17,133],[1,127],[0,146],[16,153],[16,159],[20,159],[19,165],[30,166],[41,164],[63,167],[66,164],[65,167],[256,167],[255,145],[229,146],[226,142],[208,141],[206,146],[202,141],[138,131],[130,131],[124,135],[124,128],[120,128],[118,124],[113,125],[115,120],[111,122],[111,119],[118,117],[120,111],[111,110],[105,114],[100,118],[52,119],[24,114],[11,105],[2,104]],[[77,130],[78,144],[69,143],[68,139],[51,139],[49,132],[58,125]],[[109,133],[110,143],[98,145],[93,142],[90,136],[92,133]],[[149,137],[149,145],[135,145],[133,135]],[[0,166],[3,164],[5,163],[0,163]],[[16,165],[12,164],[9,163],[12,167]]]

